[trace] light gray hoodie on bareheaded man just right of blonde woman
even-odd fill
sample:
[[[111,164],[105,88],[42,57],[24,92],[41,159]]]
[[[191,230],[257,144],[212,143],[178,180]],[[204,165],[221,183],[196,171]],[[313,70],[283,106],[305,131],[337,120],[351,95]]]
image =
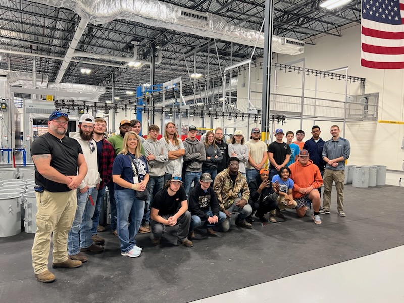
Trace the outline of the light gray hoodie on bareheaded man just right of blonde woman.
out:
[[[168,161],[168,150],[166,144],[157,140],[156,142],[148,138],[142,144],[144,148],[144,156],[149,154],[155,156],[154,160],[147,161],[148,174],[150,177],[162,177],[166,173],[166,162]]]

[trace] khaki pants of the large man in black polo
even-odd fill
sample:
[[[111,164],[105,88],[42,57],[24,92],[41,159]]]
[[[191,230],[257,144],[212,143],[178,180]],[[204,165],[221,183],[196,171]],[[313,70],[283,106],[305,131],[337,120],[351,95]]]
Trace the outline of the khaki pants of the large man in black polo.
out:
[[[76,190],[65,192],[36,192],[36,233],[32,246],[32,266],[35,274],[47,270],[51,236],[54,244],[53,263],[68,259],[67,234],[77,209]],[[53,233],[53,235],[52,235]]]

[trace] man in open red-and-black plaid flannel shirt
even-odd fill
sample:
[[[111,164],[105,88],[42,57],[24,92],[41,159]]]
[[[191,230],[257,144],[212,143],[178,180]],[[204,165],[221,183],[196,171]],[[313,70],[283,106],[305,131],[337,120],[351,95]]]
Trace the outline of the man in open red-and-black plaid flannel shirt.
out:
[[[97,203],[95,204],[94,215],[92,216],[92,241],[95,244],[104,244],[104,239],[98,236],[98,231],[104,231],[105,228],[99,224],[99,214],[101,212],[101,203],[105,194],[105,188],[112,178],[112,163],[114,162],[114,148],[112,144],[104,139],[104,133],[107,129],[107,122],[100,117],[95,118],[94,132],[92,138],[97,144],[98,172],[101,177],[99,184]]]

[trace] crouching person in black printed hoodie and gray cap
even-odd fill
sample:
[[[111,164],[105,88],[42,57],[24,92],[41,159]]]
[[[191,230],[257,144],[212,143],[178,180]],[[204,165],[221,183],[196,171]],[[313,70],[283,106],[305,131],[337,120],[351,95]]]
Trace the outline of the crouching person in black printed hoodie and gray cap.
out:
[[[210,186],[213,182],[209,173],[201,175],[199,184],[197,184],[189,195],[189,211],[191,212],[192,222],[189,228],[189,237],[195,238],[193,232],[195,227],[206,221],[208,234],[214,235],[212,226],[221,224],[226,220],[226,214],[220,211],[218,200],[213,188]]]

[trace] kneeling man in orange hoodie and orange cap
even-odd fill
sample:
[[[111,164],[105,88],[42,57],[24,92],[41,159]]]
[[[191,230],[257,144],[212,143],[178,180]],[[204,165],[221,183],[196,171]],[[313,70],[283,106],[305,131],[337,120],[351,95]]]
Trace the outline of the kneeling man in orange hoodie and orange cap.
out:
[[[297,216],[303,217],[306,213],[306,200],[313,203],[313,220],[321,224],[319,216],[320,193],[317,188],[323,184],[323,178],[317,165],[309,160],[309,153],[306,149],[300,150],[297,161],[289,166],[294,181],[293,197],[297,202]]]

